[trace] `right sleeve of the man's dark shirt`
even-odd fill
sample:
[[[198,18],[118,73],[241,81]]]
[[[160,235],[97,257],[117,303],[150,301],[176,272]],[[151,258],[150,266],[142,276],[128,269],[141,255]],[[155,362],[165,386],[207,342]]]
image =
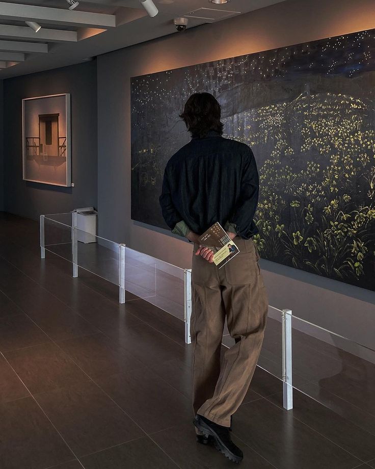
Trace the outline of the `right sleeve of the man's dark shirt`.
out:
[[[240,195],[230,223],[236,225],[237,234],[249,239],[252,235],[251,225],[259,197],[259,175],[254,154],[250,147],[244,157],[244,166],[240,182]]]

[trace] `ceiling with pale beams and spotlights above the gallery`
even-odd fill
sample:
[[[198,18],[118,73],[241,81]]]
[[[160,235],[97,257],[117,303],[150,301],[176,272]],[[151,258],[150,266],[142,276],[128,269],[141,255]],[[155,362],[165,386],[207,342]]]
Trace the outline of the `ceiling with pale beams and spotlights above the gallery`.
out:
[[[215,5],[208,0],[154,0],[159,13],[153,18],[146,14],[139,0],[86,0],[72,12],[67,10],[66,0],[0,2],[0,79],[79,63],[168,34],[183,34],[177,33],[173,25],[173,18],[178,16],[190,16],[188,28],[191,28],[283,1],[230,0]],[[205,10],[189,15],[201,8]],[[30,19],[42,26],[38,33],[26,27],[24,21]],[[114,22],[116,27],[112,27]]]

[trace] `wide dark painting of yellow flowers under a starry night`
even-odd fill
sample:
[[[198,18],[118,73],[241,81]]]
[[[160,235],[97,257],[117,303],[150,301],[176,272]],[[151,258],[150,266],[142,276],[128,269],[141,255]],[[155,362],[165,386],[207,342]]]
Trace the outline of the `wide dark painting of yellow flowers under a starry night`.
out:
[[[225,137],[253,149],[263,258],[375,290],[375,30],[134,77],[132,218],[167,227],[164,167],[178,114],[213,93]]]

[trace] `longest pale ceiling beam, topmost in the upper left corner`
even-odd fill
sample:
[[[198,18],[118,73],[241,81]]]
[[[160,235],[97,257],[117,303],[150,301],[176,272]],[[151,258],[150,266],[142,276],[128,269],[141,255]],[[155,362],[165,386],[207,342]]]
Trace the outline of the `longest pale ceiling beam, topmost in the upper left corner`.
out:
[[[6,21],[40,21],[47,24],[65,24],[79,28],[116,27],[115,15],[7,2],[0,2],[0,19]]]

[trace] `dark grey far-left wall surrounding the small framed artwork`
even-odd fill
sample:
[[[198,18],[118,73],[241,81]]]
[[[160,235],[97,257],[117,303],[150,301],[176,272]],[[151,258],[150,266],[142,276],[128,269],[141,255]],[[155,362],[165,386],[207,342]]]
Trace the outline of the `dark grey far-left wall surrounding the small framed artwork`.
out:
[[[22,180],[22,98],[71,94],[72,181],[62,188]],[[97,206],[96,60],[4,80],[4,210],[40,214]]]

